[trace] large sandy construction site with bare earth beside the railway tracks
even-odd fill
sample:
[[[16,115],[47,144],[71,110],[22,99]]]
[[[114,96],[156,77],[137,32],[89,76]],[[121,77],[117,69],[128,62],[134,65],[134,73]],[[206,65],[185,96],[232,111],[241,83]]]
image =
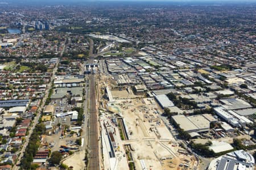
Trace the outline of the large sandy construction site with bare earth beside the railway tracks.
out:
[[[100,81],[100,122],[105,169],[194,169],[195,156],[179,146],[162,121],[153,97],[135,95],[132,87],[114,88]],[[123,96],[127,96],[126,98]]]

